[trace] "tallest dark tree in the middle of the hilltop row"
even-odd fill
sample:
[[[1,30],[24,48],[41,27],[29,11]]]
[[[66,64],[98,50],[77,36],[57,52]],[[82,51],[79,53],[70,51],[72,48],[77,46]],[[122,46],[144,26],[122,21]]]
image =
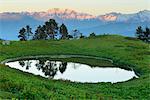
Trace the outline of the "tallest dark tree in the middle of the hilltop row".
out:
[[[50,19],[49,21],[45,22],[43,27],[45,28],[45,32],[49,38],[54,39],[56,33],[58,32],[58,24],[56,21],[54,19]]]

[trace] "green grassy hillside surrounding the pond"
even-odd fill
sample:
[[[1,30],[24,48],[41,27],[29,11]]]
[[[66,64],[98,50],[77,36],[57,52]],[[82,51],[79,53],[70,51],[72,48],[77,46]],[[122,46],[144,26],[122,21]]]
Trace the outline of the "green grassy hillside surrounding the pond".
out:
[[[0,61],[31,55],[78,54],[105,57],[115,64],[129,66],[141,74],[139,79],[110,84],[81,84],[47,80],[0,65],[0,98],[150,98],[149,44],[122,36],[61,41],[22,41],[10,46],[0,43]]]

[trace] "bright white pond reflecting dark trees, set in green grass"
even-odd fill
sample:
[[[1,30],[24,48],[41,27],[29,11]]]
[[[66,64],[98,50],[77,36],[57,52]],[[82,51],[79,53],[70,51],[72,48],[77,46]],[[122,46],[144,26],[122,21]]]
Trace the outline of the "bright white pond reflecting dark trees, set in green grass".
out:
[[[92,67],[90,65],[52,60],[20,60],[5,63],[11,68],[19,69],[23,72],[40,75],[50,79],[70,80],[81,83],[97,82],[124,82],[136,77],[133,70],[125,70],[119,67]]]

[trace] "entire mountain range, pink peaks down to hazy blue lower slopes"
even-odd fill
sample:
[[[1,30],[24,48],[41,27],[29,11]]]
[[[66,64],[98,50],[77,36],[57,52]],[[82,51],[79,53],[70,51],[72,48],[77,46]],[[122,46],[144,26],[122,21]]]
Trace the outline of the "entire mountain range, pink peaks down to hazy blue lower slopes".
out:
[[[59,25],[64,23],[68,27],[69,32],[73,29],[78,29],[86,36],[91,32],[134,36],[135,29],[139,25],[150,27],[149,10],[133,14],[111,12],[94,16],[71,9],[54,8],[45,12],[0,13],[0,38],[17,40],[18,32],[22,27],[30,25],[34,32],[38,25],[44,24],[50,18],[55,19]]]

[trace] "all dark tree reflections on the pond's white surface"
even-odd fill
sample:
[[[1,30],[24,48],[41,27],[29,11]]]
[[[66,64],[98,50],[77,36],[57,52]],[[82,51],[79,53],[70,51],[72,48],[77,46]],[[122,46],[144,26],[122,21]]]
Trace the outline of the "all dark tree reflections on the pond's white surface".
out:
[[[19,61],[20,66],[25,67],[26,70],[29,70],[31,63],[32,62],[30,60]],[[65,72],[67,68],[67,62],[56,63],[56,61],[37,60],[35,66],[39,71],[42,70],[45,76],[54,78],[58,71],[62,74]]]

